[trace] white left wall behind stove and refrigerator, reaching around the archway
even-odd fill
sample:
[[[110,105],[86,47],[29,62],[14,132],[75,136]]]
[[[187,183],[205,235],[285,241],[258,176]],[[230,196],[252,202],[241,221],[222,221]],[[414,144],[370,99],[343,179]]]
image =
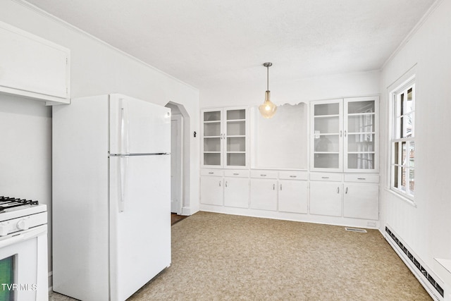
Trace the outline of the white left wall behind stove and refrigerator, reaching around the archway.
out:
[[[190,134],[199,133],[197,89],[29,4],[0,1],[0,20],[70,49],[71,97],[117,92],[161,105],[183,104],[190,116],[190,199],[185,199],[184,207],[190,213],[199,210],[199,141]],[[51,214],[51,108],[43,102],[0,94],[0,143],[0,195],[38,199],[49,206]]]

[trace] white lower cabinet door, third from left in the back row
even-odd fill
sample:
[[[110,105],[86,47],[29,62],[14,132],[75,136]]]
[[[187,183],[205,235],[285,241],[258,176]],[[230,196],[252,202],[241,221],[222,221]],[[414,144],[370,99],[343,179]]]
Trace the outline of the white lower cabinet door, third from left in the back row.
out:
[[[277,180],[251,179],[252,209],[277,210]]]

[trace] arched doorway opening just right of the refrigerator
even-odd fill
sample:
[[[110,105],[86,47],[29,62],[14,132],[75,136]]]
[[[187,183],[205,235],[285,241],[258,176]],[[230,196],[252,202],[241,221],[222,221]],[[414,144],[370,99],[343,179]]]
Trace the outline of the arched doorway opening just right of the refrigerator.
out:
[[[189,215],[190,116],[183,104],[168,102],[171,109],[171,212]]]

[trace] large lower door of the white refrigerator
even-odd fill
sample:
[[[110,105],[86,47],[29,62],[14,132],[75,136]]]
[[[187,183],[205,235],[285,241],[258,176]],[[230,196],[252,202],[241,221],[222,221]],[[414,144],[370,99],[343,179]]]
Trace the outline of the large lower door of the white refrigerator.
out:
[[[169,155],[110,157],[111,300],[127,299],[171,264],[170,164]]]

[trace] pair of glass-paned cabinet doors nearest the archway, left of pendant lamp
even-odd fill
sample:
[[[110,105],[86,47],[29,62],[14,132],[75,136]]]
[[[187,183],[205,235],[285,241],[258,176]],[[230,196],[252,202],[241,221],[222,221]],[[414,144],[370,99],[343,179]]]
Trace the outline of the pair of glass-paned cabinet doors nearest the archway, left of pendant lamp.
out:
[[[202,167],[246,168],[247,108],[202,110]]]

